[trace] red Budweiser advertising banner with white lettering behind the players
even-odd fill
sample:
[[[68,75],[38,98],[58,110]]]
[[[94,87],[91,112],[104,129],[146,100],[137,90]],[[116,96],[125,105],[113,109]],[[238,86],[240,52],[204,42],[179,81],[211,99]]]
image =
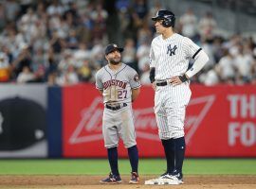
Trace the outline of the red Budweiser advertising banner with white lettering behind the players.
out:
[[[256,87],[192,85],[185,132],[187,157],[256,157]],[[140,157],[163,157],[154,91],[143,86],[133,104]],[[64,87],[64,157],[106,157],[102,97],[94,85]],[[119,144],[119,157],[127,150]]]

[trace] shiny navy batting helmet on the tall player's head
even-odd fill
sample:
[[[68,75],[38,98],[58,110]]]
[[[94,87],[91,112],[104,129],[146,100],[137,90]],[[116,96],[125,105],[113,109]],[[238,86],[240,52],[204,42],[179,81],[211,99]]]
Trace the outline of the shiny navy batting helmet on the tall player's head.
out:
[[[155,17],[152,17],[153,21],[163,20],[162,25],[170,27],[175,25],[175,15],[172,11],[166,9],[160,9],[157,11]]]

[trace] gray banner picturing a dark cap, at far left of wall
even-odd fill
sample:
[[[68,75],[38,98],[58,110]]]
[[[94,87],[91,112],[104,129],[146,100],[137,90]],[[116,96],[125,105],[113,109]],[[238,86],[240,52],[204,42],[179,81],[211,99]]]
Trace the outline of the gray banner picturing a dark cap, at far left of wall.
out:
[[[46,85],[0,87],[0,158],[46,158]]]

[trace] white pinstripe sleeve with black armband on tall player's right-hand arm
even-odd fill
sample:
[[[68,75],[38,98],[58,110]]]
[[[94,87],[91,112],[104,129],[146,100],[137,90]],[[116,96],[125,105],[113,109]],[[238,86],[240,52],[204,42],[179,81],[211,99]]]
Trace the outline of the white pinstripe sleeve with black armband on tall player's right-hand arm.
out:
[[[183,47],[187,58],[195,59],[196,55],[202,50],[196,43],[193,43],[191,39],[184,37]]]

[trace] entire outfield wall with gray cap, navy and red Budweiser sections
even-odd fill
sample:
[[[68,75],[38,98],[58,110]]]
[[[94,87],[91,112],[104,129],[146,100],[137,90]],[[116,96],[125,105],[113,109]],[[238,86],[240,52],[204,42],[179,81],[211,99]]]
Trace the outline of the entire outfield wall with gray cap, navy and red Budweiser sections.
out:
[[[0,89],[0,158],[106,158],[94,85]],[[154,91],[143,86],[133,104],[140,157],[164,157],[153,106]],[[192,85],[186,116],[187,157],[256,157],[255,86]],[[119,155],[127,157],[121,144]]]

